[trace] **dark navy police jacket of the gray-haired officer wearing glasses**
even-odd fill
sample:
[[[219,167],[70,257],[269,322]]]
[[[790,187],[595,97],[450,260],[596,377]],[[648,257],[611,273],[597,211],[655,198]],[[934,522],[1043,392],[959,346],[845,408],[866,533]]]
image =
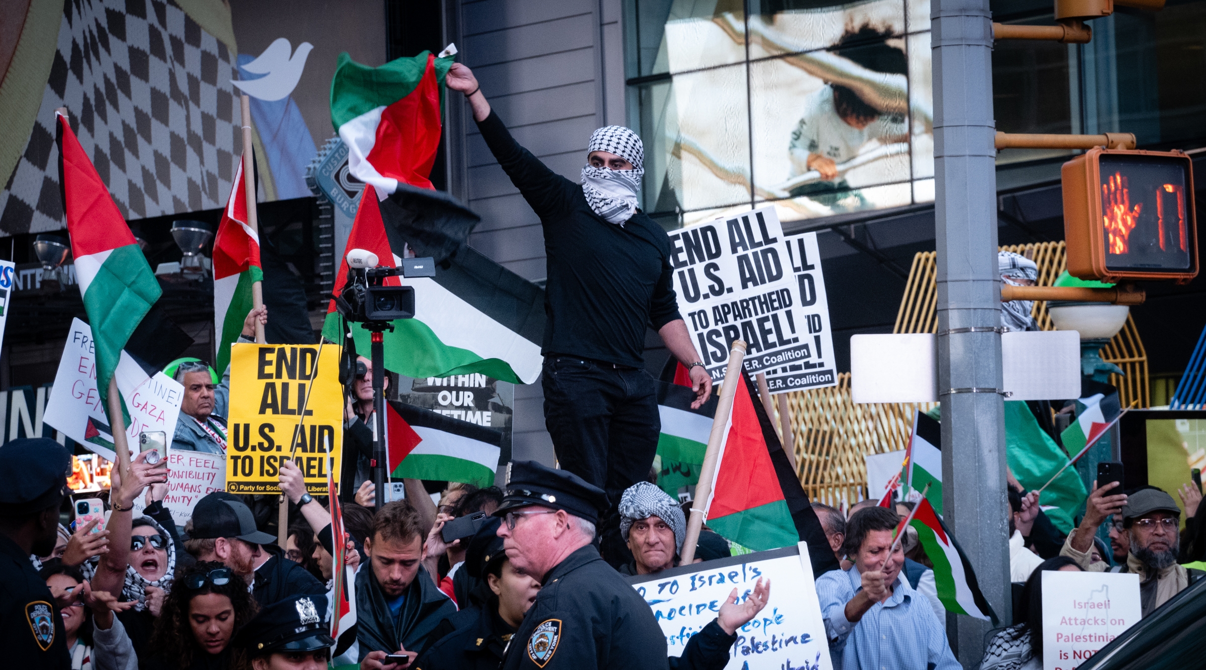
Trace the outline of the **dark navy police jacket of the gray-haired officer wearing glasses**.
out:
[[[549,571],[503,663],[505,670],[657,666],[668,663],[652,610],[593,544]]]

